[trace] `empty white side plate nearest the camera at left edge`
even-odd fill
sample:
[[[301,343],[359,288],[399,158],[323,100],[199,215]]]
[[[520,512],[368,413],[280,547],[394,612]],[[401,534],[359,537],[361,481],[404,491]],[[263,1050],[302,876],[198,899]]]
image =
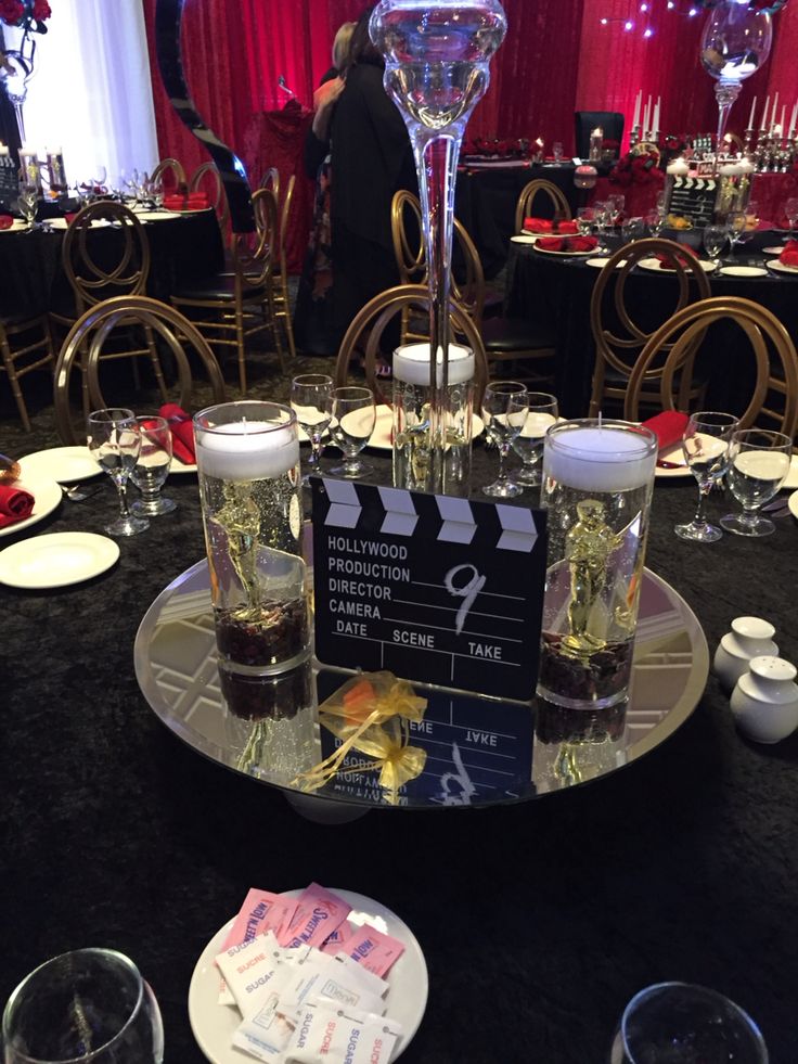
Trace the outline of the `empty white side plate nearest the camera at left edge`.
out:
[[[12,588],[64,588],[110,569],[119,544],[94,533],[34,536],[0,551],[0,584]]]

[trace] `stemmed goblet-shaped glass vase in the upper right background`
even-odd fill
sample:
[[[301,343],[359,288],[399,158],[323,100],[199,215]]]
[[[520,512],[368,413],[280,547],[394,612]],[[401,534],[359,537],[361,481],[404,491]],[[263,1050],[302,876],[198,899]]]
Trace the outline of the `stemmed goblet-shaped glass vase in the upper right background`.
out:
[[[722,0],[709,12],[700,43],[700,60],[716,78],[718,100],[717,150],[723,143],[726,121],[742,82],[756,74],[770,55],[773,24],[767,11],[756,11],[748,0]],[[762,124],[767,121],[767,115]]]

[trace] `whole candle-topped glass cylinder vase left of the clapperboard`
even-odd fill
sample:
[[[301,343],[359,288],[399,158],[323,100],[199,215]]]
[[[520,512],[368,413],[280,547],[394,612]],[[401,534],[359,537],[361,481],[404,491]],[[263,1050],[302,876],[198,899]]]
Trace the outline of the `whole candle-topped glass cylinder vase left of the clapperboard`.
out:
[[[226,402],[194,416],[219,668],[271,676],[309,655],[296,415]]]

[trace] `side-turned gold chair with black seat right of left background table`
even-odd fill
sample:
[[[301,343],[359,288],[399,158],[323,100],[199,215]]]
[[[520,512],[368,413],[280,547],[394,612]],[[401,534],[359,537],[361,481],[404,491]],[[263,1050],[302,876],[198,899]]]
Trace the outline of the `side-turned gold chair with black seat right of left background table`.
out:
[[[171,296],[176,307],[205,312],[192,320],[211,346],[235,348],[243,395],[246,394],[246,344],[258,333],[266,330],[272,333],[280,369],[285,372],[280,330],[274,323],[270,298],[271,270],[280,240],[276,202],[271,190],[258,189],[253,193],[253,210],[255,232],[235,234],[232,271],[191,282]]]

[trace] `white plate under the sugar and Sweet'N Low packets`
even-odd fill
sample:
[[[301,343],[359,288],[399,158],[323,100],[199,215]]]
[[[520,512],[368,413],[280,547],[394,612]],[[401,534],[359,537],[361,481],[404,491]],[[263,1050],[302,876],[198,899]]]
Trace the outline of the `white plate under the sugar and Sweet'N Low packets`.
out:
[[[362,924],[368,921],[404,944],[404,952],[388,972],[389,986],[385,996],[387,1015],[398,1021],[403,1028],[390,1057],[395,1061],[410,1044],[426,1009],[429,978],[424,953],[410,927],[390,909],[352,890],[338,890],[337,887],[330,889],[352,907],[348,918],[352,923]],[[301,890],[285,893],[292,898],[298,898]],[[220,1005],[218,1001],[219,969],[214,963],[214,958],[221,952],[232,925],[233,920],[229,920],[205,947],[189,987],[191,1029],[200,1049],[211,1064],[243,1064],[250,1060],[232,1047],[233,1031],[241,1022],[237,1010],[231,1005]]]

